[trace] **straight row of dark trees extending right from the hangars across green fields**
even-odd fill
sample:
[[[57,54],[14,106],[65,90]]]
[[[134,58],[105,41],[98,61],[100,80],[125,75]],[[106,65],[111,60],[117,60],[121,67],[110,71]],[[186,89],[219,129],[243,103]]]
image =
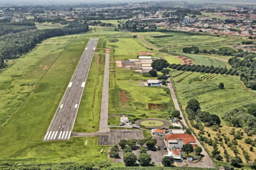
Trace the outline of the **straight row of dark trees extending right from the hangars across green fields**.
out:
[[[182,71],[188,71],[188,72],[202,72],[202,73],[216,73],[221,75],[239,75],[239,72],[237,69],[222,69],[218,67],[213,66],[200,66],[200,65],[180,65],[180,64],[171,64],[169,65],[170,69],[176,69],[176,70],[182,70]]]

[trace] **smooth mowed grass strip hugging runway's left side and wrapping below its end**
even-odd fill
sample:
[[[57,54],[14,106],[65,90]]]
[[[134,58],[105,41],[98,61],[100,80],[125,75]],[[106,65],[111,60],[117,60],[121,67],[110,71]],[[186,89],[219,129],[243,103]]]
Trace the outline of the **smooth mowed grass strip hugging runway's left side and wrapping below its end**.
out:
[[[98,146],[98,138],[88,138],[86,146],[85,138],[43,142],[85,46],[86,44],[70,44],[41,78],[33,94],[21,104],[1,132],[0,159],[22,159],[40,163],[105,160],[105,153],[101,154],[99,151],[107,147]]]

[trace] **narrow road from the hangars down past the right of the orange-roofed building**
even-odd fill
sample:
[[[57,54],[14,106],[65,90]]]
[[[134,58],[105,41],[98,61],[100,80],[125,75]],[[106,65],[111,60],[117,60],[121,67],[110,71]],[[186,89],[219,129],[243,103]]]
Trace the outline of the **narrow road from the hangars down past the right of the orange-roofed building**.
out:
[[[184,124],[184,126],[188,126],[187,123],[186,123],[186,121],[185,121],[185,119],[184,119],[184,117],[183,117],[183,114],[182,114],[182,112],[181,112],[181,110],[180,110],[180,106],[179,106],[178,100],[177,100],[177,98],[176,98],[176,94],[175,94],[175,92],[174,92],[174,89],[173,89],[173,87],[172,87],[172,83],[171,83],[170,78],[168,78],[167,81],[169,82],[169,83],[168,83],[168,86],[169,86],[169,89],[171,90],[171,97],[172,97],[172,101],[173,101],[173,103],[174,103],[175,109],[180,111],[180,117],[182,117],[182,120],[181,120],[181,121],[182,121],[182,123]],[[193,135],[194,135],[194,134],[193,134]],[[194,137],[194,138],[196,138],[196,137]],[[202,148],[202,154],[204,154],[205,157],[203,157],[199,163],[193,164],[193,167],[214,168],[214,164],[213,164],[212,159],[211,159],[210,156],[207,154],[207,152],[206,152],[205,149],[202,147],[201,143],[197,140],[197,138],[196,138],[196,143],[197,143],[197,146],[201,146],[201,148]],[[178,164],[178,165],[179,165],[179,164]],[[190,163],[189,165],[191,165],[191,163]]]

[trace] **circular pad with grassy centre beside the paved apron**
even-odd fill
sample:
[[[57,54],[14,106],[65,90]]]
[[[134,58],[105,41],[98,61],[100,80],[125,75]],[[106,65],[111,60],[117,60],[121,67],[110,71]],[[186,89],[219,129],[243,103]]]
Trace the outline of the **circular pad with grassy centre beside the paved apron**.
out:
[[[144,121],[144,122],[143,122]],[[141,124],[142,123],[142,124]],[[152,126],[149,124],[149,123],[152,123]],[[169,127],[171,125],[171,123],[167,120],[162,120],[162,119],[157,119],[157,118],[146,118],[146,119],[142,119],[142,120],[137,120],[135,121],[135,124],[140,124],[140,125],[143,125],[145,126],[146,124],[148,124],[148,128],[152,128],[152,129],[160,129],[160,128],[163,128],[163,127]],[[160,126],[155,126],[155,124],[162,124]]]

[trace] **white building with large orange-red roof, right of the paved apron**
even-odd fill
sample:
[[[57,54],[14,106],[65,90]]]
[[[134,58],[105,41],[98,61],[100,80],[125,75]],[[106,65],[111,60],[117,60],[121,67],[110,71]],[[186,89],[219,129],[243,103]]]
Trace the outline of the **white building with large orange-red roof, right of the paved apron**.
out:
[[[168,148],[182,148],[183,144],[196,144],[196,139],[190,134],[169,134],[165,136],[165,140],[168,143]]]

